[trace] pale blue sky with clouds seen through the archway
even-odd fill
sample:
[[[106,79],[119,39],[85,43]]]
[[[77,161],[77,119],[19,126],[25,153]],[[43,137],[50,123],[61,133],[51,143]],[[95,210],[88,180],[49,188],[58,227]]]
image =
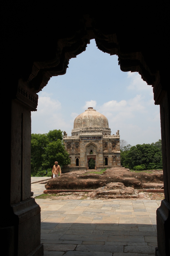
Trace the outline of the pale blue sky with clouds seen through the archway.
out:
[[[138,73],[122,72],[117,59],[91,40],[86,51],[69,61],[66,74],[52,77],[38,93],[31,132],[60,129],[71,135],[76,116],[93,107],[107,117],[111,134],[120,130],[120,139],[128,144],[158,141],[160,110],[153,89]]]

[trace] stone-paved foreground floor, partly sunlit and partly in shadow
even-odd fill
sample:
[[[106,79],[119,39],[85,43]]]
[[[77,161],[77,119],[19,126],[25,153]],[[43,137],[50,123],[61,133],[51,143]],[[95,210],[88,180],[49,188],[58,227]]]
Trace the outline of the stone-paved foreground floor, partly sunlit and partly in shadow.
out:
[[[43,208],[44,256],[152,256],[155,253],[159,200],[35,200]]]

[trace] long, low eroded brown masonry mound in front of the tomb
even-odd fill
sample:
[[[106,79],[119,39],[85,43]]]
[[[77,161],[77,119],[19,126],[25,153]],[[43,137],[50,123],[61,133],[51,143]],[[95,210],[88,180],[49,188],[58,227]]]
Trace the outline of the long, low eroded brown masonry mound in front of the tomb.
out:
[[[124,167],[112,167],[104,173],[95,174],[90,171],[74,171],[61,174],[45,184],[46,190],[59,189],[97,189],[109,183],[123,183],[135,189],[163,188],[163,171],[130,172]]]

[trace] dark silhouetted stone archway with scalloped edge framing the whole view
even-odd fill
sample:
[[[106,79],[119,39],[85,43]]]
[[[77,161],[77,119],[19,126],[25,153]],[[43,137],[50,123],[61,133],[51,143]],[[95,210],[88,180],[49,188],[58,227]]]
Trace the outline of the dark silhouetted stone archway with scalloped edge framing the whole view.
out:
[[[158,5],[154,3],[154,6],[148,5],[147,9],[143,10],[140,6],[140,13],[139,6],[136,5],[133,6],[131,16],[130,4],[126,12],[122,11],[122,6],[115,6],[114,15],[108,14],[105,18],[96,13],[84,16],[71,15],[71,17],[63,14],[56,16],[51,14],[51,9],[48,12],[48,7],[46,4],[44,9],[46,19],[43,19],[42,13],[39,14],[37,10],[33,14],[36,18],[30,19],[30,13],[34,10],[31,12],[28,10],[27,13],[25,12],[27,7],[24,10],[21,7],[19,13],[16,8],[15,14],[12,11],[11,15],[9,10],[6,21],[8,28],[4,29],[6,33],[3,36],[5,42],[3,77],[6,78],[4,84],[7,83],[9,87],[6,116],[10,119],[11,125],[10,136],[9,132],[5,131],[5,137],[9,138],[6,153],[10,156],[10,166],[13,166],[8,172],[7,195],[2,198],[4,200],[2,243],[8,250],[7,254],[21,255],[23,252],[25,255],[43,254],[40,243],[40,207],[30,197],[30,111],[36,111],[38,104],[36,93],[46,86],[50,77],[65,74],[69,59],[84,51],[89,40],[95,38],[100,50],[118,56],[122,71],[137,71],[143,80],[153,86],[155,104],[160,105],[165,200],[157,210],[156,255],[168,255],[170,222],[168,215],[170,97],[166,64],[169,50],[166,33],[168,8],[164,3]],[[120,14],[121,23],[117,22]],[[125,24],[133,24],[133,29],[124,26]],[[35,27],[38,29],[34,29]],[[42,40],[42,35],[46,34],[49,35],[48,40]],[[23,219],[27,229],[23,228]]]

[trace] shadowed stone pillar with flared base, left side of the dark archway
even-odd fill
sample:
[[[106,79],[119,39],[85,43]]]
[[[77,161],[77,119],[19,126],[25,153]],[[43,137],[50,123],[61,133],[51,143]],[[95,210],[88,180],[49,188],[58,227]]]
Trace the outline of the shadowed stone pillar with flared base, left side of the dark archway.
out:
[[[14,97],[15,96],[15,97]],[[7,193],[2,202],[1,242],[5,255],[43,255],[40,243],[40,207],[31,198],[31,110],[36,110],[38,95],[24,83],[19,83],[9,100],[8,144],[6,164]]]

